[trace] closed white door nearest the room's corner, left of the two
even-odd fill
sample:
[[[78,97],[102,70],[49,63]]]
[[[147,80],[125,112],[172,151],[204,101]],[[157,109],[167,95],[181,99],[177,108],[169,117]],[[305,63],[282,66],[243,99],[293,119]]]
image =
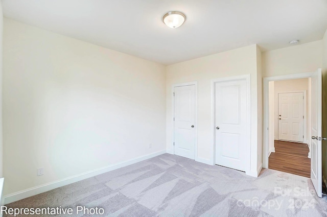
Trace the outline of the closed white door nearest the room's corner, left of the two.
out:
[[[195,85],[174,88],[174,153],[195,159]]]

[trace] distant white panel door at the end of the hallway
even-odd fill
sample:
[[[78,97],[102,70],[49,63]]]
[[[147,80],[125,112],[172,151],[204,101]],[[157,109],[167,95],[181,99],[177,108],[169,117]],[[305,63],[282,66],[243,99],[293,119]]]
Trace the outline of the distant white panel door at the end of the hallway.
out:
[[[278,139],[303,142],[303,92],[278,93]]]

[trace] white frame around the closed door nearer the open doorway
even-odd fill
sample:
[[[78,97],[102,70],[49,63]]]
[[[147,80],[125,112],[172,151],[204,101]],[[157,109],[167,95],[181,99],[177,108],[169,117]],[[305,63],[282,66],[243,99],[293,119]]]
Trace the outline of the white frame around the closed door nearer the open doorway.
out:
[[[241,76],[232,76],[232,77],[224,77],[218,79],[211,80],[211,127],[212,127],[212,139],[213,139],[213,165],[216,165],[216,91],[215,84],[218,82],[226,82],[226,81],[236,81],[236,80],[245,80],[246,81],[246,116],[247,116],[247,132],[246,132],[246,174],[250,174],[251,170],[251,75],[241,75]]]

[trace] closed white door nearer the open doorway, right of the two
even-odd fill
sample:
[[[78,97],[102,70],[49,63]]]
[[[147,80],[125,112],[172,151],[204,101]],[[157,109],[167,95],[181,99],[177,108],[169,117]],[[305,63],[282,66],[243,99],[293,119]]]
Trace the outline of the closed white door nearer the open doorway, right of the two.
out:
[[[215,83],[216,164],[246,170],[246,80]]]

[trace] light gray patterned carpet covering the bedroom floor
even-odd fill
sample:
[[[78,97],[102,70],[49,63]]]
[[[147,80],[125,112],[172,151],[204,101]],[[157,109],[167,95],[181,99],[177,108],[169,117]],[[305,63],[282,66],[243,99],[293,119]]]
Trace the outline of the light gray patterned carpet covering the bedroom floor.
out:
[[[327,216],[326,197],[315,195],[308,178],[265,169],[253,178],[170,154],[7,206],[78,205],[105,213],[59,216]]]

